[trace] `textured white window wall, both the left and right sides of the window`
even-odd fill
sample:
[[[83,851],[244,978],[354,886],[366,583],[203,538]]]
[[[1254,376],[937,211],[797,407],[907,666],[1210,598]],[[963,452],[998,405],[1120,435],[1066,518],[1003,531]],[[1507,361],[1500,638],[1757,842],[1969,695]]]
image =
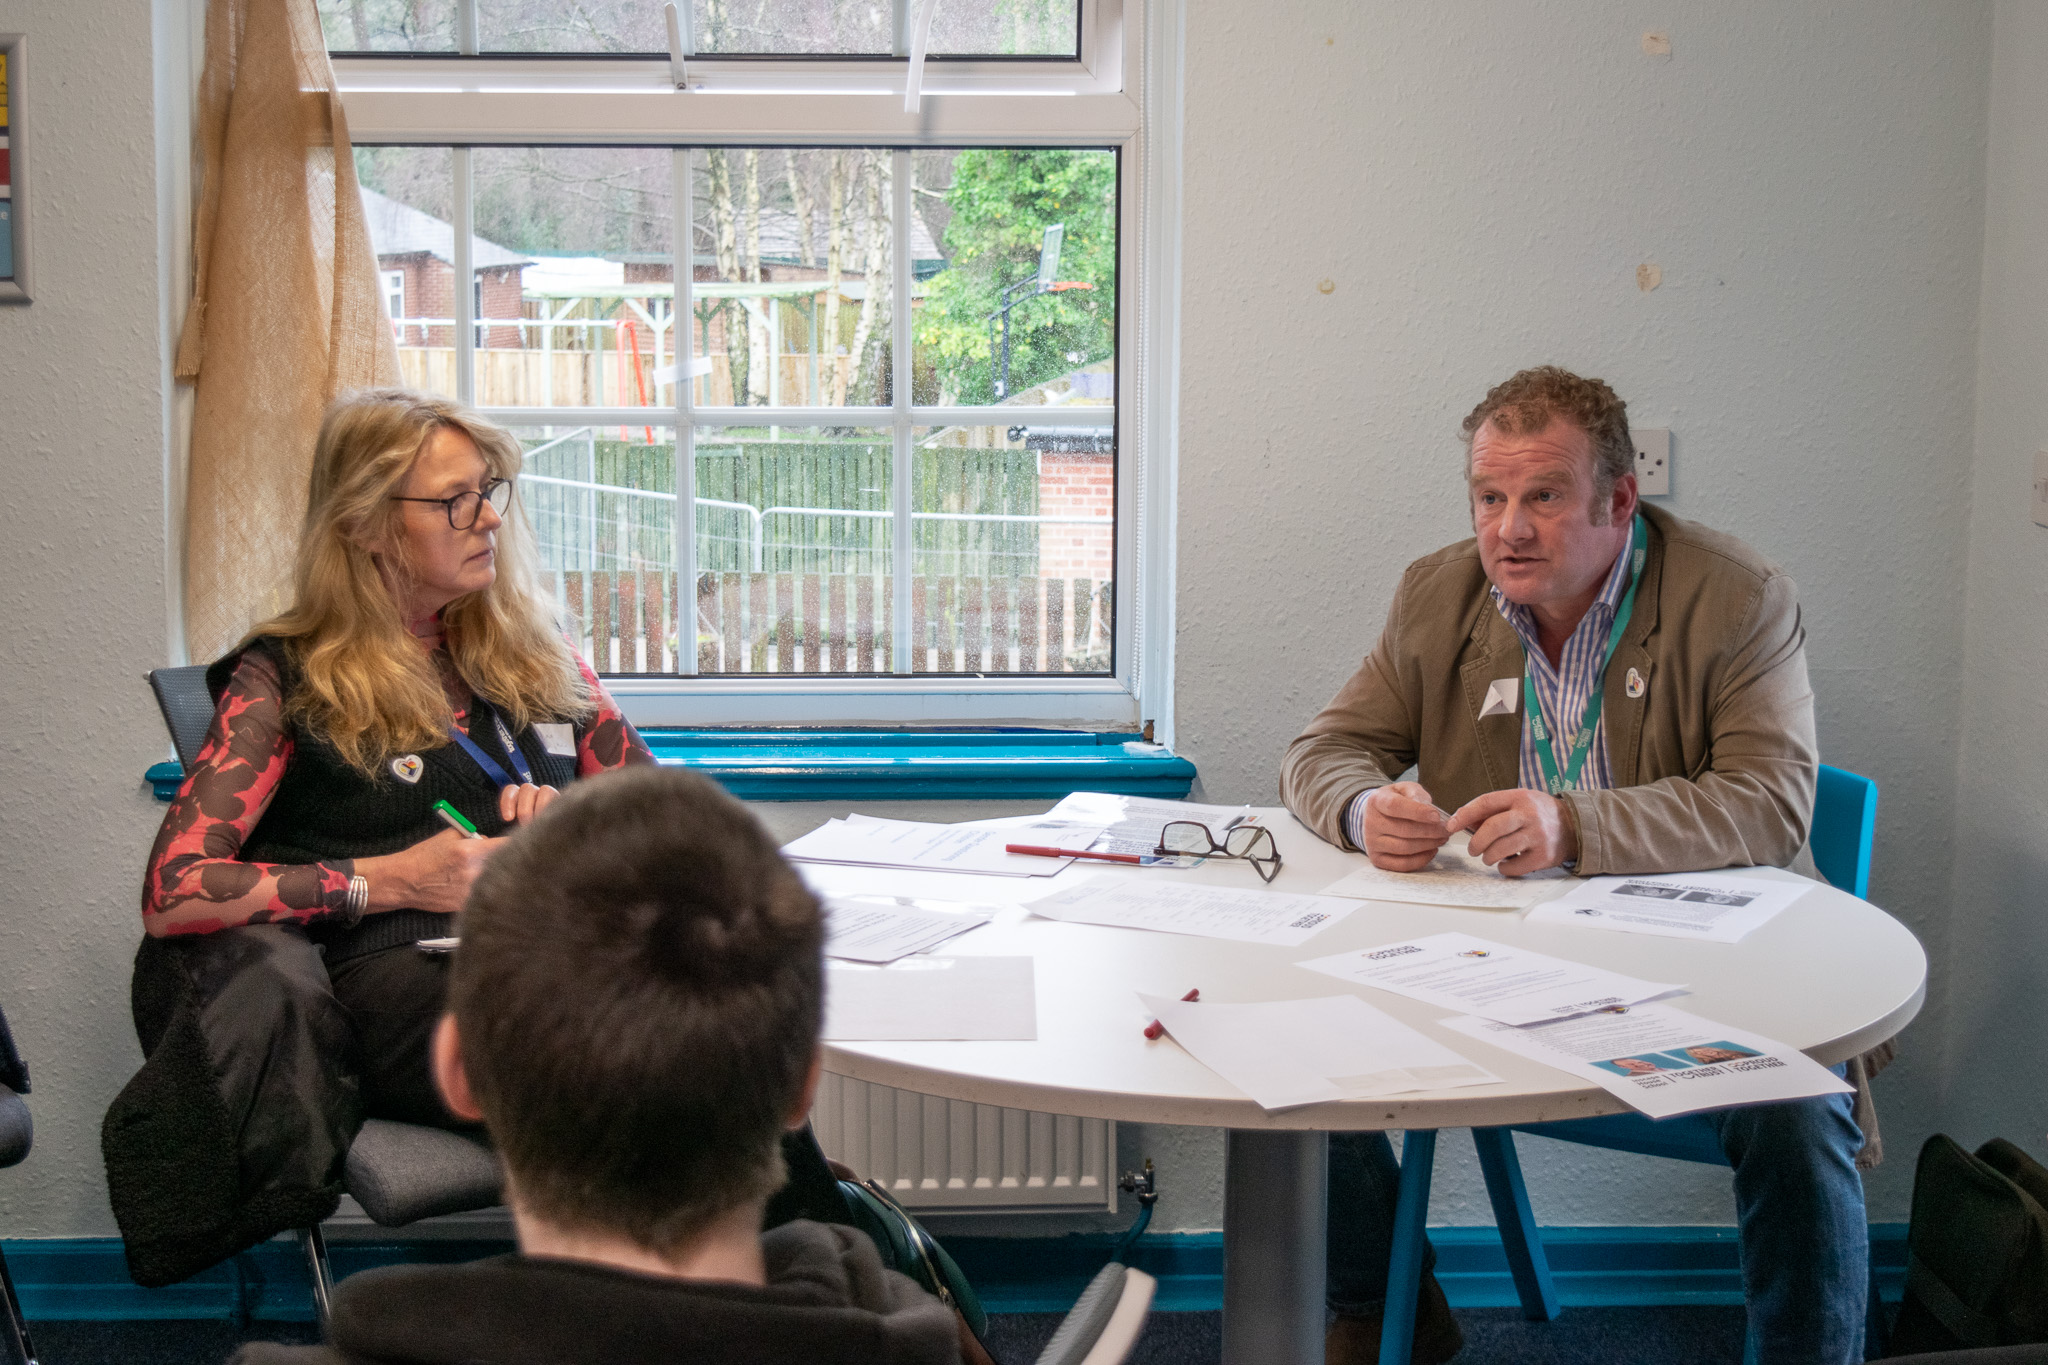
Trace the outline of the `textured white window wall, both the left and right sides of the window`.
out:
[[[41,299],[0,309],[0,1003],[39,1083],[37,1154],[0,1177],[0,1228],[90,1236],[111,1232],[98,1117],[137,1062],[127,962],[162,810],[137,776],[164,753],[141,671],[168,653],[168,133],[147,0],[0,0],[0,29],[35,35],[43,137]],[[1645,29],[1669,31],[1669,61]],[[1903,1216],[1944,1099],[1985,1134],[2042,1126],[2034,1099],[1935,1083],[1950,962],[1968,988],[1952,1060],[2042,1027],[2011,952],[2038,933],[2023,847],[2044,796],[2019,677],[2044,655],[2028,536],[2048,536],[2021,512],[2048,303],[2048,172],[2019,133],[2042,115],[2040,29],[2030,4],[1999,10],[1993,86],[1974,2],[1188,0],[1178,706],[1204,792],[1272,800],[1401,565],[1464,534],[1454,432],[1485,387],[1538,360],[1608,377],[1640,424],[1675,430],[1669,505],[1798,577],[1827,757],[1884,786],[1876,900],[1929,941],[1937,980],[1880,1089],[1880,1218]],[[2021,800],[1978,808],[1972,790]],[[764,808],[784,833],[829,812]],[[1952,841],[1991,872],[1954,874]],[[1952,890],[1970,907],[1954,935]],[[1212,1134],[1124,1134],[1124,1160],[1161,1164],[1157,1226],[1221,1222]],[[1544,1222],[1731,1218],[1710,1171],[1548,1146],[1526,1144]],[[1446,1166],[1438,1218],[1485,1222],[1477,1179]]]

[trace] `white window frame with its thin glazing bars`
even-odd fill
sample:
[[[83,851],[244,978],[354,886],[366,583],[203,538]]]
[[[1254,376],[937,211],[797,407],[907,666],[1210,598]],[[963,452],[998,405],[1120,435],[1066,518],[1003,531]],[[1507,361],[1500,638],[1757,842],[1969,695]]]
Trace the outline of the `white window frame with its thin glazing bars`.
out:
[[[907,65],[897,59],[688,59],[684,90],[668,61],[537,57],[336,57],[350,135],[358,145],[455,147],[457,278],[469,268],[477,145],[610,143],[676,147],[676,280],[688,311],[690,147],[893,147],[897,221],[909,221],[907,160],[920,147],[1114,147],[1118,188],[1118,432],[1114,673],[1100,677],[934,677],[907,671],[893,632],[897,677],[612,675],[606,686],[637,724],[963,724],[1032,722],[1137,729],[1171,743],[1174,436],[1180,299],[1180,0],[1081,0],[1081,59],[938,61],[924,72],[918,113],[905,113]],[[907,0],[897,0],[899,14]],[[467,6],[465,6],[467,10]],[[473,10],[469,10],[473,14]],[[1143,41],[1126,39],[1126,20]],[[467,25],[473,47],[475,27]],[[899,49],[905,43],[899,23]],[[895,233],[897,299],[909,297],[907,233]],[[473,385],[473,301],[455,291],[459,397]],[[494,407],[506,426],[645,424],[651,411],[678,432],[676,487],[694,481],[692,436],[705,426],[1071,424],[1073,409],[909,405],[909,309],[893,311],[893,407],[696,407],[676,385],[672,409]],[[895,481],[897,553],[907,551],[909,479]],[[694,542],[678,518],[678,581],[694,577]],[[907,602],[907,575],[897,573]],[[901,610],[899,610],[901,616]],[[694,649],[678,667],[694,671]]]

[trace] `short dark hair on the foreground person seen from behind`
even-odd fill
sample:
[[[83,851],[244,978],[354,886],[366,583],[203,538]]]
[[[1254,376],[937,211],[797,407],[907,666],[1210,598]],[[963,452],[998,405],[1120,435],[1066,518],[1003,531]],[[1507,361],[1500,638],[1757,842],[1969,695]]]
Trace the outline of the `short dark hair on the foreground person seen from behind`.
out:
[[[821,948],[817,898],[717,784],[635,767],[559,796],[477,876],[449,978],[522,1203],[676,1252],[774,1193]]]

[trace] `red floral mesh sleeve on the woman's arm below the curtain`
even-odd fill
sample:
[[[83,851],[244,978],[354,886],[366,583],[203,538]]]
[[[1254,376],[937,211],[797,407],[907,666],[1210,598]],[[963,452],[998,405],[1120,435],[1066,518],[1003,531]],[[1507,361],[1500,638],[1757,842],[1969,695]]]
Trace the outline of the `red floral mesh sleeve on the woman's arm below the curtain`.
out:
[[[270,806],[291,751],[276,665],[246,653],[221,694],[199,763],[156,833],[141,886],[143,929],[162,937],[236,925],[303,925],[348,909],[352,862],[252,864],[240,857],[244,839]]]

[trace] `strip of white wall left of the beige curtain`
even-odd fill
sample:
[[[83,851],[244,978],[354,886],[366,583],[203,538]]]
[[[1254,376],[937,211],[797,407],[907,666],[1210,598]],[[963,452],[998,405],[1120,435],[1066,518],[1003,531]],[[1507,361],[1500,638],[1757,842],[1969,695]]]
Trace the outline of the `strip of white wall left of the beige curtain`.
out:
[[[35,1081],[6,1236],[113,1232],[98,1134],[141,1054],[127,964],[168,757],[166,344],[150,0],[0,0],[35,303],[0,307],[0,1005]]]

